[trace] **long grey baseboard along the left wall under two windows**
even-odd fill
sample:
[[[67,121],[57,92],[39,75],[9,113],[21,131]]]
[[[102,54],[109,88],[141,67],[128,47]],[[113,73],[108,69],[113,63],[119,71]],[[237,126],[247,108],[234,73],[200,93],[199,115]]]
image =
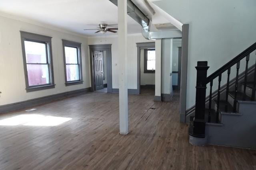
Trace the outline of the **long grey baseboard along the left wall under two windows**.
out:
[[[35,99],[26,100],[26,101],[22,101],[22,102],[6,104],[6,105],[0,106],[0,113],[8,113],[10,111],[23,109],[23,108],[26,108],[26,107],[33,107],[33,106],[37,106],[37,105],[40,105],[40,104],[49,103],[52,100],[65,98],[65,97],[70,97],[70,96],[78,96],[78,95],[81,95],[81,94],[84,94],[84,93],[87,93],[87,92],[91,92],[90,87],[79,89],[79,90],[73,90],[73,91],[69,91],[69,92],[64,92],[64,93],[59,93],[59,94],[53,94],[53,95],[50,95],[50,96],[44,96],[44,97],[41,97],[41,98],[35,98]]]

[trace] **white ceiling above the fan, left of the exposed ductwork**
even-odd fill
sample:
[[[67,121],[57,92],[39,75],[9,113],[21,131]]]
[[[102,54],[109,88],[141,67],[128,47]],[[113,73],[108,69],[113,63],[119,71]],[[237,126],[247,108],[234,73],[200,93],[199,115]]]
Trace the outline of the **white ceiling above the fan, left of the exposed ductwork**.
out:
[[[0,13],[88,36],[101,34],[83,29],[118,23],[117,7],[109,0],[0,0]],[[140,32],[141,26],[128,16],[128,33]]]

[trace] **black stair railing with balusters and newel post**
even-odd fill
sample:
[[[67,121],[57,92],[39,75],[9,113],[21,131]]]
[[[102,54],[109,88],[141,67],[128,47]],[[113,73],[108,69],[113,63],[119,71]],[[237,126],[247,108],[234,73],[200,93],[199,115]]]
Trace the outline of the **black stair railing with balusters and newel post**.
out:
[[[208,122],[211,122],[211,106],[212,106],[212,85],[213,80],[218,77],[218,96],[217,96],[217,113],[216,113],[216,123],[219,121],[219,109],[220,109],[220,83],[222,80],[222,74],[224,72],[228,72],[227,78],[227,86],[226,86],[226,102],[228,102],[228,91],[230,86],[230,69],[232,66],[236,64],[236,82],[235,82],[235,94],[234,94],[234,104],[233,111],[236,112],[236,103],[237,103],[237,92],[238,92],[238,76],[239,76],[239,68],[240,61],[246,57],[246,69],[245,69],[245,77],[244,77],[244,90],[243,93],[246,92],[247,85],[247,76],[248,76],[248,62],[250,59],[250,53],[256,50],[256,43],[248,47],[242,53],[237,55],[234,59],[226,63],[224,66],[216,70],[210,76],[207,75],[207,70],[209,66],[207,65],[207,61],[198,61],[196,70],[196,108],[195,108],[195,117],[193,123],[193,131],[190,135],[195,137],[204,137],[205,131],[205,103],[206,103],[206,85],[210,83],[210,95],[209,95],[209,113],[208,113]],[[252,100],[255,98],[255,87],[256,87],[256,64],[254,68],[254,89],[252,92]],[[225,108],[227,109],[227,107]]]

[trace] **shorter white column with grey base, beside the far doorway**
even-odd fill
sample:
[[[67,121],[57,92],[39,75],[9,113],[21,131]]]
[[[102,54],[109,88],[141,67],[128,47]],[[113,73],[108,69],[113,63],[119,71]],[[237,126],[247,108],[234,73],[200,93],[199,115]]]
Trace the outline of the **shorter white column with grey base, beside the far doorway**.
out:
[[[156,72],[155,72],[155,96],[154,101],[161,101],[161,55],[162,39],[156,40]]]

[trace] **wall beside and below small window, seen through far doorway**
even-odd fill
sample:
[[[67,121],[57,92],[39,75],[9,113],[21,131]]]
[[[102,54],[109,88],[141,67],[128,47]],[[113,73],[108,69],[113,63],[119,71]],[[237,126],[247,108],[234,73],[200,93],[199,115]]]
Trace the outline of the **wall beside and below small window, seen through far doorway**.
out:
[[[155,84],[155,73],[144,73],[144,49],[140,50],[140,85]]]

